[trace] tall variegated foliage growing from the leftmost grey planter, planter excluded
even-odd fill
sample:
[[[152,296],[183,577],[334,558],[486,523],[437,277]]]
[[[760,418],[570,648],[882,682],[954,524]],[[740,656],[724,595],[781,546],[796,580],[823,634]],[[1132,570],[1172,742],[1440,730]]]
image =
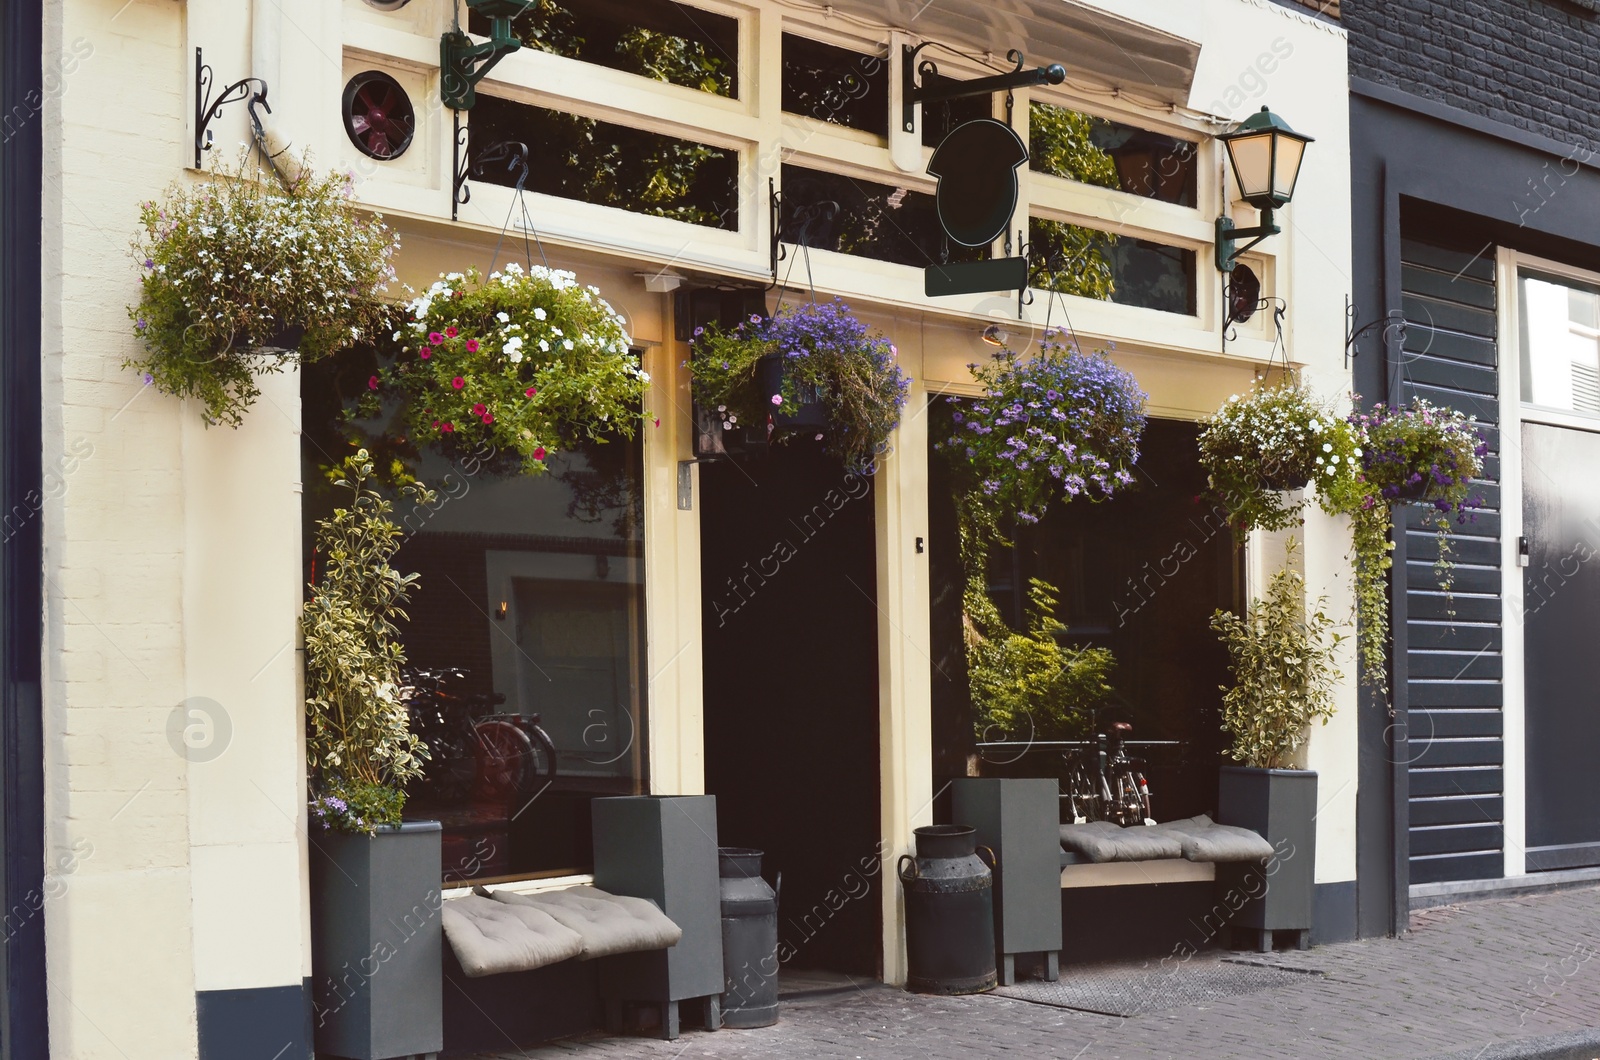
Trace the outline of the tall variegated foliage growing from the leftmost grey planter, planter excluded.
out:
[[[400,698],[405,648],[395,626],[418,575],[390,562],[402,530],[371,488],[373,474],[366,450],[344,461],[336,485],[350,492],[349,503],[317,522],[320,567],[301,616],[312,817],[368,834],[400,821],[405,785],[427,757]],[[432,503],[421,487],[406,492]]]

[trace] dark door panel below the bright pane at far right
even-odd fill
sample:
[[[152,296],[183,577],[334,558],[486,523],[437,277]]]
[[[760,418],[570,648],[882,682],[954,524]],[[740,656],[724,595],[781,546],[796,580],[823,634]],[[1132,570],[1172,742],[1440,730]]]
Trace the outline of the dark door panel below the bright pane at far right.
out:
[[[1600,434],[1522,428],[1528,871],[1600,865]]]

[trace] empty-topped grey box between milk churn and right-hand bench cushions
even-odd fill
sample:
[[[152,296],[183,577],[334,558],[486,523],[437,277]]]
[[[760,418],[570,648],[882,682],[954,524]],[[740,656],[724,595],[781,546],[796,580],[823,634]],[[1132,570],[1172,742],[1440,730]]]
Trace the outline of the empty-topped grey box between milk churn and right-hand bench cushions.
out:
[[[962,778],[952,813],[995,852],[995,967],[1016,982],[1016,956],[1040,954],[1045,978],[1061,961],[1061,810],[1054,780]]]

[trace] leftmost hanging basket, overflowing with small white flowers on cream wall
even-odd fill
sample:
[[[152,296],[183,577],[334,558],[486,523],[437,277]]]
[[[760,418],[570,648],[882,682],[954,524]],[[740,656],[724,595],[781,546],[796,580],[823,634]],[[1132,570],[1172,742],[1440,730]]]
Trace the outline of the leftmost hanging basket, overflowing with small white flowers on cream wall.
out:
[[[133,253],[144,354],[123,362],[165,394],[192,397],[208,424],[237,428],[256,376],[315,360],[382,330],[379,295],[398,240],[350,202],[350,178],[309,167],[282,186],[243,162],[142,203]]]

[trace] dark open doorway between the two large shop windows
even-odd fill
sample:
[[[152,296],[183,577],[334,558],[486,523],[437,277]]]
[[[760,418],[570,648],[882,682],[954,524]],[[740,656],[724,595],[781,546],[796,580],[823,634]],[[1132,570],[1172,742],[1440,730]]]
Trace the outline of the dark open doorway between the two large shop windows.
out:
[[[872,480],[811,440],[701,464],[706,789],[782,873],[786,967],[878,974]]]

